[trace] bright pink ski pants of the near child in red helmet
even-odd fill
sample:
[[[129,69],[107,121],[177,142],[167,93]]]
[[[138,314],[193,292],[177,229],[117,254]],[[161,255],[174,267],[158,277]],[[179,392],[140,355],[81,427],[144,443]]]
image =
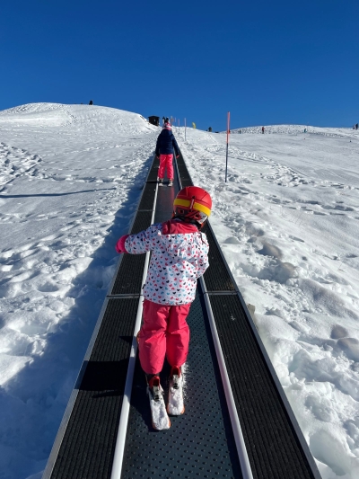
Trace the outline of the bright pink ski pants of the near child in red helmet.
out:
[[[144,299],[144,324],[137,334],[141,367],[146,374],[162,371],[164,357],[171,366],[182,366],[188,355],[190,303],[163,306]]]

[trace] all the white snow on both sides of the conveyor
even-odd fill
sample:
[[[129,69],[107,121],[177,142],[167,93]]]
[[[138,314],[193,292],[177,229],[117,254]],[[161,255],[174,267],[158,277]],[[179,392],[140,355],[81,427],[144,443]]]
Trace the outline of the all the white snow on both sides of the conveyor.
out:
[[[304,128],[307,132],[304,133]],[[175,128],[323,479],[359,477],[359,133]],[[38,479],[157,127],[89,105],[0,111],[0,478]]]

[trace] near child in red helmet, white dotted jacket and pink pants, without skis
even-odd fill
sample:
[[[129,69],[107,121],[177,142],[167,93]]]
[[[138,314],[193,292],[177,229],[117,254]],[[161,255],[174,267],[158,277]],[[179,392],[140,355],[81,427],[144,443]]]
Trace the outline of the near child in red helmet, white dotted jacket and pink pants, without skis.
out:
[[[208,267],[208,243],[200,229],[211,208],[205,190],[186,187],[173,202],[172,219],[137,235],[122,236],[116,245],[118,253],[153,252],[144,283],[144,323],[137,335],[141,367],[153,395],[161,389],[164,358],[171,365],[171,378],[179,380],[187,359],[186,319],[196,296],[197,279]],[[177,411],[182,412],[184,408]]]

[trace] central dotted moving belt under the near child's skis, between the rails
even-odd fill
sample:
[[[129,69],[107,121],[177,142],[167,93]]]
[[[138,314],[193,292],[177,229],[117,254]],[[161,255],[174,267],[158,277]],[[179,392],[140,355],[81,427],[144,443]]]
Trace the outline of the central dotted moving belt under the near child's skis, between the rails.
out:
[[[174,188],[158,189],[155,223],[171,218],[179,187],[176,176]],[[171,429],[166,432],[152,428],[144,372],[139,362],[136,363],[121,479],[241,478],[206,307],[201,297],[199,289],[188,315],[191,339],[184,368],[186,412],[180,417],[172,417]],[[161,380],[166,393],[169,373],[170,367],[166,364]]]

